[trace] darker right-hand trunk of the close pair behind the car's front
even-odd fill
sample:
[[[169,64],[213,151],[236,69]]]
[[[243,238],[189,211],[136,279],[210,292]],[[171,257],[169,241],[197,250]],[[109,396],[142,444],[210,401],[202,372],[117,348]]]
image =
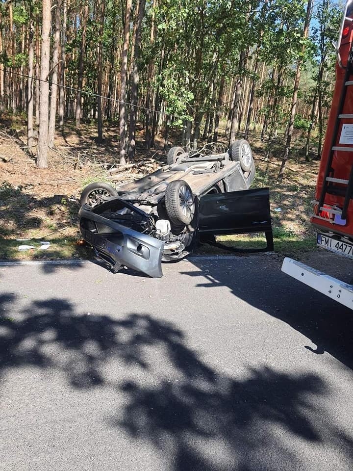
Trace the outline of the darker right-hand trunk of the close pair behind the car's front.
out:
[[[139,1],[138,15],[136,19],[136,34],[134,37],[134,56],[133,56],[133,70],[132,70],[132,83],[131,83],[131,105],[130,105],[130,123],[129,123],[129,151],[128,156],[133,159],[135,156],[136,147],[136,116],[137,116],[137,96],[139,84],[139,70],[138,59],[140,56],[141,48],[141,26],[145,14],[146,0]]]

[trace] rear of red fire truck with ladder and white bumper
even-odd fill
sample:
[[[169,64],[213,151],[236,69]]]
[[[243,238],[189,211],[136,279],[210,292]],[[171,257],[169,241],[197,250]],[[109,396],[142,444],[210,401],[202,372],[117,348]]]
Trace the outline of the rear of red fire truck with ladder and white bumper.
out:
[[[336,83],[310,220],[318,229],[318,246],[353,259],[353,0],[346,3],[336,54]],[[353,309],[353,285],[289,258],[282,271]]]

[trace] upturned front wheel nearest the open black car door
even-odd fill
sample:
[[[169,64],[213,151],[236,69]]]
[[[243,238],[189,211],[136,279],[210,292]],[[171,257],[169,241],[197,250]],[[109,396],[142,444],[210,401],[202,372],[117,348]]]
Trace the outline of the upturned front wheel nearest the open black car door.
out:
[[[165,207],[172,225],[190,224],[195,214],[195,198],[184,180],[175,180],[165,190]]]

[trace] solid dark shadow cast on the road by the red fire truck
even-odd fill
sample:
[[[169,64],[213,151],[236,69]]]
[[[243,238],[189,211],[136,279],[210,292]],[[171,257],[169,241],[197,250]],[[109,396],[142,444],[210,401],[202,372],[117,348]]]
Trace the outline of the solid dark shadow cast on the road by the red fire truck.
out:
[[[280,271],[280,265],[264,255],[228,262],[206,262],[194,257],[195,270],[181,272],[202,280],[198,288],[228,287],[246,303],[286,322],[310,339],[316,354],[325,351],[353,369],[352,311]],[[241,276],[238,273],[241,272]],[[269,276],[270,272],[270,276]],[[249,283],[251,280],[251,284]]]

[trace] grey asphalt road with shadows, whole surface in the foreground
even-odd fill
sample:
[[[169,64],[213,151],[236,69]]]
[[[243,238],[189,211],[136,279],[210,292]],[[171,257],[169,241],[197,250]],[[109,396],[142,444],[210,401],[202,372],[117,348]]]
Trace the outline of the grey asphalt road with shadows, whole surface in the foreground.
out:
[[[353,311],[279,266],[0,267],[0,470],[352,470]]]

